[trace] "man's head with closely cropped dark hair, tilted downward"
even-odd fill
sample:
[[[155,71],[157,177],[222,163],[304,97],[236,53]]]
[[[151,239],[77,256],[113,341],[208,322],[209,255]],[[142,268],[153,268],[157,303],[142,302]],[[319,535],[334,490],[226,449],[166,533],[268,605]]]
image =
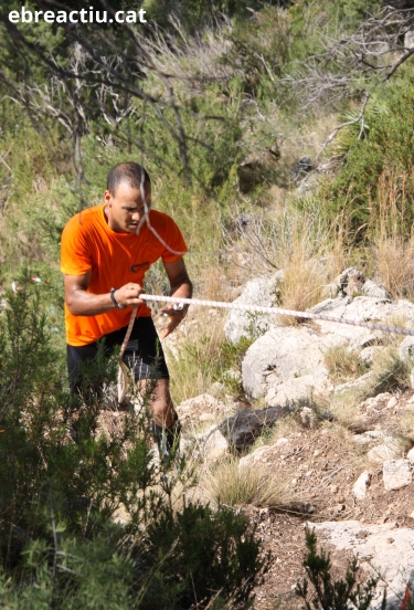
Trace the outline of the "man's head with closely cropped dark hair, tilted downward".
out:
[[[105,203],[110,229],[134,233],[144,218],[146,206],[147,210],[151,206],[151,185],[144,167],[135,162],[113,167],[108,173]]]

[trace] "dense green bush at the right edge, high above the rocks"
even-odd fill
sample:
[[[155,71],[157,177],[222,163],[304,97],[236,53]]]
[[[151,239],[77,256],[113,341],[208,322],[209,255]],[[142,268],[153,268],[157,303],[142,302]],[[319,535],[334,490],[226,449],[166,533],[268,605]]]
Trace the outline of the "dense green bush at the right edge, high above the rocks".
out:
[[[408,108],[413,102],[413,76],[407,72],[382,86],[381,103],[369,105],[365,137],[358,139],[357,125],[341,136],[343,145],[348,140],[344,164],[333,183],[321,187],[320,197],[327,214],[340,215],[357,240],[372,238],[379,227],[410,235],[414,148]]]

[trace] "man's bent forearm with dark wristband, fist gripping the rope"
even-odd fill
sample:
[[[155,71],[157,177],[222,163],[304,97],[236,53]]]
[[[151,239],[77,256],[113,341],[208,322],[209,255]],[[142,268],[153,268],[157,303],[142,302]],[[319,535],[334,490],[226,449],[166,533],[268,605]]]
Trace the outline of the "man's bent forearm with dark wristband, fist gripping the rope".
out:
[[[110,298],[110,293],[93,294],[87,292],[91,284],[92,272],[84,275],[65,275],[65,302],[68,311],[74,316],[97,316],[115,309]],[[141,305],[144,301],[139,295],[144,288],[139,284],[125,284],[115,292],[115,298],[120,305],[135,307]]]

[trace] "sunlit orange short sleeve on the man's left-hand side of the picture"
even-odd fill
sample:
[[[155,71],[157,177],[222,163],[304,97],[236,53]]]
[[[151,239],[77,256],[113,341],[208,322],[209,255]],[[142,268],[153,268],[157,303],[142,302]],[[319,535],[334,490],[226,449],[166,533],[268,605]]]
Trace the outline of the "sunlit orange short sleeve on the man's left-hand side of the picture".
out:
[[[78,214],[72,218],[62,233],[61,272],[66,275],[84,275],[92,270],[92,256],[82,231]]]

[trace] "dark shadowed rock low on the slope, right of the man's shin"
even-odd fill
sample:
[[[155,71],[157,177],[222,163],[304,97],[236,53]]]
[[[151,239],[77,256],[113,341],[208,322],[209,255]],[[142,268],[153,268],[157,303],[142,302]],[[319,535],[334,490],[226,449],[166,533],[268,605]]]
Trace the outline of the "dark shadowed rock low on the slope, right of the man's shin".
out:
[[[290,410],[286,407],[267,407],[261,410],[243,409],[232,418],[224,420],[219,429],[232,446],[242,451],[254,442],[263,428],[274,425],[289,412]]]

